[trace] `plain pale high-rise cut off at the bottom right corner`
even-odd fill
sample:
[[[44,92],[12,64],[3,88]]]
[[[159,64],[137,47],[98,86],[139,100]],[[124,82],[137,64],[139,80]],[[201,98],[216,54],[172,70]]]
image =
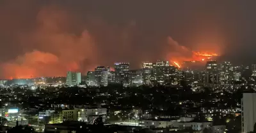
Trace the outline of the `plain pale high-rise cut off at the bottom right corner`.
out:
[[[243,94],[241,100],[242,132],[253,132],[256,123],[256,94]]]

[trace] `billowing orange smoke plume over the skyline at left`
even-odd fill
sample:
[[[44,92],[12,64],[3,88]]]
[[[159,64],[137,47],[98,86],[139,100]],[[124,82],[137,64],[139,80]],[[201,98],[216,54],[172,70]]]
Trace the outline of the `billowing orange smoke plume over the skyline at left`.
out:
[[[65,76],[67,71],[86,72],[92,69],[95,46],[89,32],[68,32],[72,15],[42,8],[37,16],[37,26],[27,34],[19,34],[24,48],[37,48],[19,55],[16,59],[1,64],[4,78],[35,78],[39,76]],[[94,66],[93,66],[94,67]]]

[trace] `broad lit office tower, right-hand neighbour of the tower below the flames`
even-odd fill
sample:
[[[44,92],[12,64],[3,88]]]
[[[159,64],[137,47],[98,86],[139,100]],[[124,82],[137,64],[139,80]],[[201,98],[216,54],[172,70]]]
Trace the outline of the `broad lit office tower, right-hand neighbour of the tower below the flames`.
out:
[[[234,80],[234,67],[230,62],[223,62],[218,64],[218,71],[220,73],[221,85],[231,84]]]

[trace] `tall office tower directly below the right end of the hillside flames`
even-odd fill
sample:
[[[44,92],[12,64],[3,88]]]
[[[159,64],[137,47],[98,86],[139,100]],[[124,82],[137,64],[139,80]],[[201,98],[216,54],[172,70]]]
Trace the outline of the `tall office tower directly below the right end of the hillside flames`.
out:
[[[220,74],[218,73],[218,66],[216,61],[207,61],[205,66],[205,84],[220,83]]]

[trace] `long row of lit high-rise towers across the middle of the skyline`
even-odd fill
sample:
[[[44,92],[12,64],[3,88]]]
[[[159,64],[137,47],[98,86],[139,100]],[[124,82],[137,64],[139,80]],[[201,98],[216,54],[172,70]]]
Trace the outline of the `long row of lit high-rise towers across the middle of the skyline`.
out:
[[[122,84],[124,87],[138,87],[140,85],[175,86],[184,82],[196,86],[223,85],[240,79],[241,73],[236,71],[239,68],[232,66],[230,62],[217,64],[216,61],[211,60],[204,64],[204,69],[195,71],[189,66],[179,68],[171,65],[168,61],[159,60],[157,62],[143,62],[141,69],[131,70],[129,63],[118,62],[115,63],[115,71],[111,71],[110,67],[98,66],[95,71],[88,71],[84,80],[88,86],[98,87],[108,86],[111,83]],[[81,73],[68,72],[67,82],[73,80],[73,84],[80,83],[81,79],[77,78],[79,76],[81,76]],[[67,84],[71,84],[71,82]]]

